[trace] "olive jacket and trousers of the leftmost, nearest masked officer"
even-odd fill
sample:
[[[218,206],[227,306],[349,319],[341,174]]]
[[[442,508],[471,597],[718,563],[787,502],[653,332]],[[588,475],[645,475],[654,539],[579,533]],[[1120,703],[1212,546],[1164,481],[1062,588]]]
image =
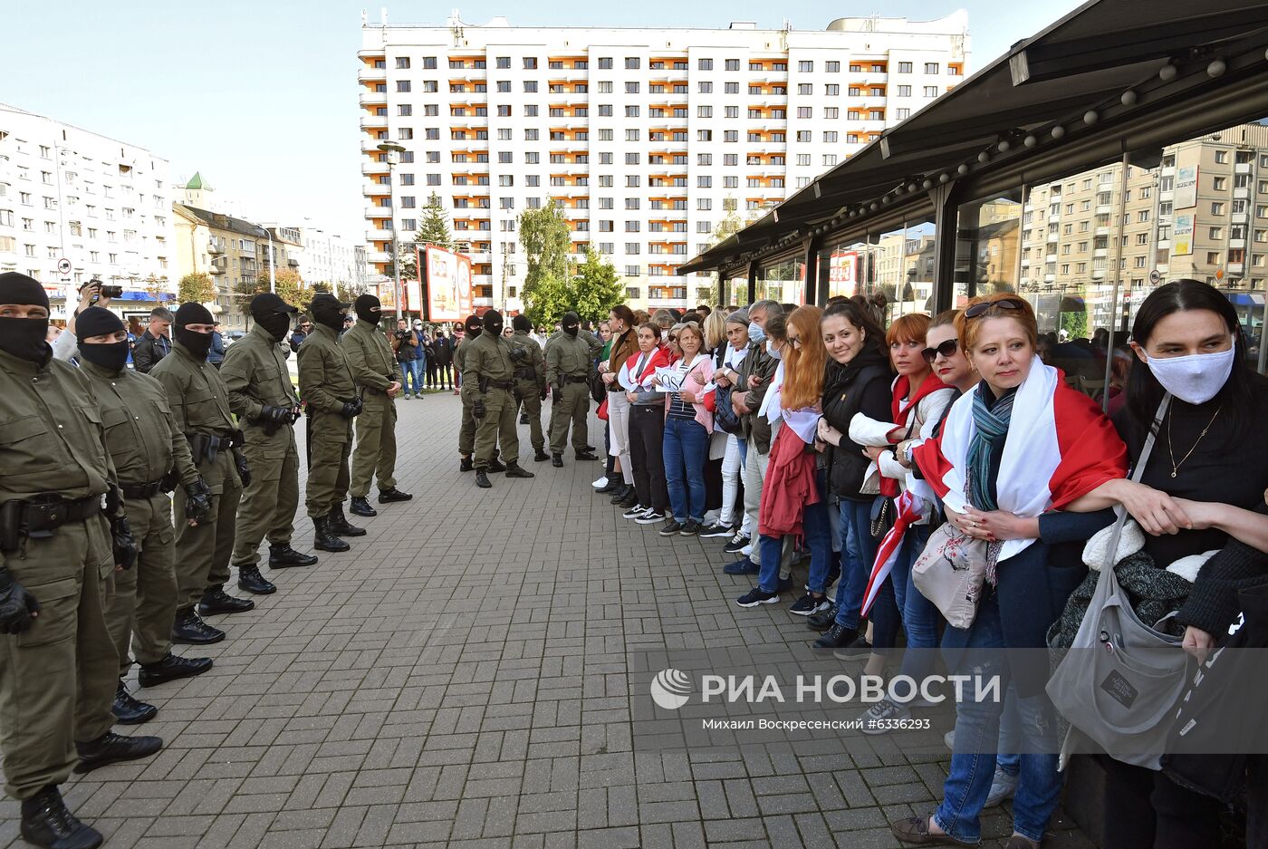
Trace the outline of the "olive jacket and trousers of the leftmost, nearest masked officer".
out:
[[[37,365],[0,352],[0,503],[49,492],[96,500],[113,475],[89,378],[62,360]],[[29,629],[0,635],[5,791],[25,800],[70,777],[76,741],[96,740],[114,725],[109,524],[94,511],[47,538],[24,538],[18,551],[0,551],[0,563],[41,608]]]

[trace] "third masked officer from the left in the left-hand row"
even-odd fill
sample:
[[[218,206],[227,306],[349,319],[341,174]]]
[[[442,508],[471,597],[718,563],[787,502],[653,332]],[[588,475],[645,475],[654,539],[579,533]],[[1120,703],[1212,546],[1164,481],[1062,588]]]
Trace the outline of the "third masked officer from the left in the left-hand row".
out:
[[[212,489],[212,509],[198,524],[186,522],[189,496],[176,492],[176,624],[172,641],[202,645],[219,642],[224,632],[199,614],[241,613],[250,599],[224,593],[230,580],[235,524],[242,487],[251,471],[242,454],[242,431],[230,411],[230,391],[219,371],[207,362],[216,327],[200,303],[183,303],[172,324],[171,354],[150,372],[167,391],[176,428],[189,440],[198,472]],[[197,605],[197,609],[195,609]]]

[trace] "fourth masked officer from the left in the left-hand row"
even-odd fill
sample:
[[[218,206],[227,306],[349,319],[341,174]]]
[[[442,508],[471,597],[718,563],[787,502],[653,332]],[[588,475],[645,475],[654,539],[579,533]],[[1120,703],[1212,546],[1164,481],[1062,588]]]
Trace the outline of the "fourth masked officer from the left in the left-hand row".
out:
[[[266,595],[276,591],[260,575],[260,541],[269,538],[269,569],[312,566],[317,558],[290,547],[299,506],[299,452],[294,423],[299,398],[290,383],[280,344],[299,310],[271,292],[251,299],[251,331],[230,345],[221,377],[230,393],[230,409],[242,425],[251,482],[238,504],[233,558],[238,586]]]

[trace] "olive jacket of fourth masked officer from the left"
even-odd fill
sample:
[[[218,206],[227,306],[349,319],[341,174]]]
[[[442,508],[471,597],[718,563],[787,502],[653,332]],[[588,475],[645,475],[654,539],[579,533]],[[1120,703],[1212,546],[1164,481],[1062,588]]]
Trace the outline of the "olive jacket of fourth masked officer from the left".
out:
[[[299,396],[290,383],[287,371],[287,358],[281,348],[259,324],[251,332],[230,345],[221,363],[221,377],[230,393],[230,409],[238,418],[238,424],[252,444],[289,444],[292,433],[289,425],[279,426],[271,437],[255,424],[260,411],[269,407],[299,406]]]

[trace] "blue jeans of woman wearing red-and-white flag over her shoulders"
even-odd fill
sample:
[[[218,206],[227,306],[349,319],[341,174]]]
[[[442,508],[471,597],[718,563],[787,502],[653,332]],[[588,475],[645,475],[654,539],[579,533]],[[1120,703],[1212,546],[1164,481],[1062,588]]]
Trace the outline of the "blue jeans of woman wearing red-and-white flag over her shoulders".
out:
[[[969,626],[967,646],[960,674],[998,675],[999,692],[1007,692],[1011,670],[1004,654],[984,651],[1004,647],[999,622],[999,603],[988,593],[978,605],[978,617]],[[990,793],[999,742],[999,717],[1003,701],[973,701],[974,687],[965,687],[965,701],[956,704],[955,753],[951,770],[942,786],[943,800],[933,817],[956,840],[981,839],[981,806]],[[1061,796],[1061,774],[1056,772],[1056,721],[1045,694],[1017,698],[1022,751],[1018,756],[1017,794],[1013,797],[1013,830],[1038,843]],[[1042,753],[1042,754],[1030,754]]]

